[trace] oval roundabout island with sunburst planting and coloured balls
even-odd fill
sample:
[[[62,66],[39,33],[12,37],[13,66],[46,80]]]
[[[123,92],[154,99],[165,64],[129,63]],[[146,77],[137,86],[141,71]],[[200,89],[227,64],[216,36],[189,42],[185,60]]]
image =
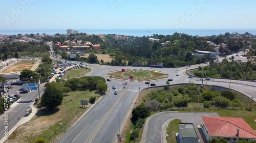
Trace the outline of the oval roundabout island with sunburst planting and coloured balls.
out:
[[[169,74],[155,70],[143,70],[143,69],[122,69],[109,71],[105,75],[108,78],[122,81],[158,81],[169,77]]]

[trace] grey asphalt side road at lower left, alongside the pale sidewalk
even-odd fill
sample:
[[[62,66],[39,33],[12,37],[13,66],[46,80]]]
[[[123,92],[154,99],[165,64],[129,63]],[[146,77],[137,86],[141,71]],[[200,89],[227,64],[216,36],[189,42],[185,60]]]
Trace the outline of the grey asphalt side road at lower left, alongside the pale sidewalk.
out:
[[[39,89],[40,89],[40,94],[44,92],[44,84],[41,84]],[[25,111],[29,108],[29,105],[32,104],[32,102],[36,98],[38,98],[38,90],[29,92],[27,94],[20,94],[20,95],[22,95],[22,99],[20,99],[20,101],[17,103],[17,106],[6,111],[6,113],[8,113],[8,130],[11,130],[18,123],[18,120],[17,120],[18,117],[19,119],[22,119],[26,115]],[[4,120],[5,120],[5,117],[2,115],[0,117],[0,129],[1,129],[0,139],[4,137],[3,129],[5,129],[5,126],[6,126],[4,125]]]

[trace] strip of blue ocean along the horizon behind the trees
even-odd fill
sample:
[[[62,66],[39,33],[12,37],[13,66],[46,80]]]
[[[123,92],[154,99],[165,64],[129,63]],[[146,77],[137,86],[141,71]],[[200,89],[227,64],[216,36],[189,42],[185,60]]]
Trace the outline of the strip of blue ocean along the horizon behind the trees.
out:
[[[87,34],[118,34],[118,35],[127,35],[127,36],[152,36],[153,34],[158,35],[173,35],[175,32],[177,33],[185,33],[192,36],[212,36],[212,35],[220,35],[228,33],[239,33],[244,34],[246,32],[256,35],[256,30],[176,30],[176,29],[144,29],[144,30],[78,30],[79,33],[87,33]],[[46,33],[48,35],[55,35],[56,33],[59,34],[67,34],[67,30],[15,30],[15,31],[7,31],[7,30],[0,30],[0,35],[17,35],[17,34],[37,34],[40,35],[42,33]]]

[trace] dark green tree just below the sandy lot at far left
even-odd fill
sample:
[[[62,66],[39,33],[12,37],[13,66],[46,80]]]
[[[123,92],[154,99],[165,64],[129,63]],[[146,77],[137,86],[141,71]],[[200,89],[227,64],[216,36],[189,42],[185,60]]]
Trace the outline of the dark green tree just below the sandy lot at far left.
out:
[[[20,75],[19,75],[19,80],[22,81],[28,81],[28,82],[35,82],[39,79],[39,74],[37,72],[24,69]]]

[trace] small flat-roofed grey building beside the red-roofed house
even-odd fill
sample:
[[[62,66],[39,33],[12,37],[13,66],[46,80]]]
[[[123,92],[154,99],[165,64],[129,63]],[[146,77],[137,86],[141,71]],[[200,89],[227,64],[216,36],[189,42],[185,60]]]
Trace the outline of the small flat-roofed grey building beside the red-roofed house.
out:
[[[198,143],[198,135],[192,123],[179,123],[180,143]]]

